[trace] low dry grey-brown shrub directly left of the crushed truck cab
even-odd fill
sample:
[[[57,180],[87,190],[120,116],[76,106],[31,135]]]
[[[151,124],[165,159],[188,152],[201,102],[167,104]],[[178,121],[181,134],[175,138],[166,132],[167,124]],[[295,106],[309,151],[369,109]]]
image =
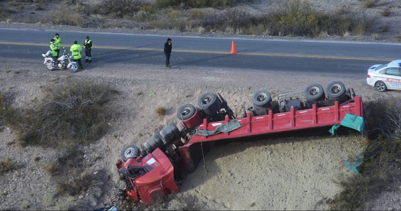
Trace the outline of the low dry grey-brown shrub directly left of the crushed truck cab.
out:
[[[56,193],[75,196],[78,194],[84,194],[93,180],[92,175],[81,174],[70,180],[60,180],[56,183]]]

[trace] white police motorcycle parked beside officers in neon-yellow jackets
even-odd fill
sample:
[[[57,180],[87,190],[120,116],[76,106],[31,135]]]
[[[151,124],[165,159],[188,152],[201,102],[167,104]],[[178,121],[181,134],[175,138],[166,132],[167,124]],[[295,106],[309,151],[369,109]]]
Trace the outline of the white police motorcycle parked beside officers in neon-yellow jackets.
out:
[[[44,58],[43,64],[45,64],[47,69],[49,69],[49,70],[67,68],[71,72],[77,72],[78,71],[77,62],[73,62],[72,61],[73,57],[68,55],[68,53],[65,52],[65,50],[63,50],[63,55],[60,56],[57,59],[58,64],[53,59],[52,54],[51,54],[51,50],[47,51],[46,54],[42,54],[42,56]]]

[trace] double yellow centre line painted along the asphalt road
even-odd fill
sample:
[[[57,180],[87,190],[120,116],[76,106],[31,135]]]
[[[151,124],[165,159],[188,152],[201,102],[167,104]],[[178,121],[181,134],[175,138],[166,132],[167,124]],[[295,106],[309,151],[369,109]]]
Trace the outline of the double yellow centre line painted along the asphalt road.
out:
[[[33,45],[33,46],[48,46],[49,44],[42,43],[28,43],[28,42],[0,42],[0,44],[8,45]],[[103,49],[120,49],[120,50],[151,50],[151,51],[162,51],[159,48],[132,48],[132,47],[113,47],[113,46],[95,46],[93,48]],[[177,50],[175,52],[188,52],[188,53],[209,53],[209,54],[230,54],[227,51],[208,51],[208,50]],[[381,60],[381,61],[392,61],[397,60],[396,58],[373,58],[373,57],[356,57],[356,56],[327,56],[327,55],[303,55],[303,54],[273,54],[273,53],[253,53],[253,52],[238,52],[237,54],[242,55],[257,55],[257,56],[290,56],[290,57],[305,57],[305,58],[332,58],[332,59],[353,59],[353,60]]]

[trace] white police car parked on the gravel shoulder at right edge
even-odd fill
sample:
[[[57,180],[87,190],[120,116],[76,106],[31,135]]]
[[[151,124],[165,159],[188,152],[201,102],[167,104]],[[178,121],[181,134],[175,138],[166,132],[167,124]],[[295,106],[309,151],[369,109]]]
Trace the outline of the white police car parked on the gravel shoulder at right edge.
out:
[[[387,89],[401,90],[401,60],[371,66],[366,82],[379,92],[385,92]]]

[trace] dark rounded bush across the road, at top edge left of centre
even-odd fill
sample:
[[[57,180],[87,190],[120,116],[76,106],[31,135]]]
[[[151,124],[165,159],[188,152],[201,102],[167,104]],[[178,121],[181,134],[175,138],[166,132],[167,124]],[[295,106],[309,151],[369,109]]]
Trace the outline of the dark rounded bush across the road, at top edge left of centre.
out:
[[[143,6],[145,3],[142,0],[103,0],[94,6],[93,11],[113,18],[122,18],[134,15]]]

